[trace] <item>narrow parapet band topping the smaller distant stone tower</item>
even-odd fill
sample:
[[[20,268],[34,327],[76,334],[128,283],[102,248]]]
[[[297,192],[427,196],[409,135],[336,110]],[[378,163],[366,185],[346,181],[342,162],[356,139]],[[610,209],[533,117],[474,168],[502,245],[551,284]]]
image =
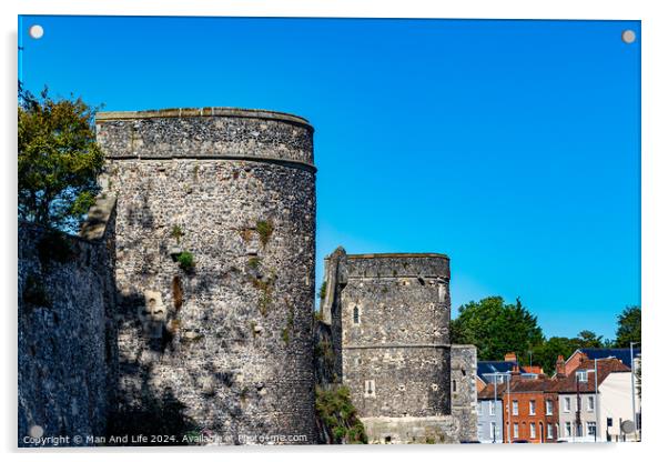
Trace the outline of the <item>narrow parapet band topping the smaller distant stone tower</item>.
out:
[[[348,278],[445,278],[449,258],[443,253],[363,253],[347,255]]]

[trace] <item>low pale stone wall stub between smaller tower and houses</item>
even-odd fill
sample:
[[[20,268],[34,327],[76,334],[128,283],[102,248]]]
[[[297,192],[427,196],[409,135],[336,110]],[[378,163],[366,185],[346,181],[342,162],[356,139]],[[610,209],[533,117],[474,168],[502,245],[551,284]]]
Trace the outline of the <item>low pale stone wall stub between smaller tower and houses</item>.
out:
[[[474,345],[451,346],[452,412],[459,421],[460,441],[477,441],[477,350]]]

